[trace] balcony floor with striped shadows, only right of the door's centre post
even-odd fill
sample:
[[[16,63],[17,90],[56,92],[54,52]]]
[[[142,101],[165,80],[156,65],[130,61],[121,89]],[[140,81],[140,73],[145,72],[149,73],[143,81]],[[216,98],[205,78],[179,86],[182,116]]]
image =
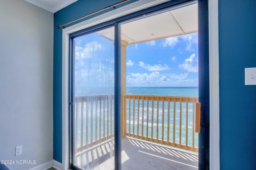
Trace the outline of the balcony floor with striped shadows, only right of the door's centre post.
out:
[[[195,170],[198,169],[198,155],[155,143],[122,138],[122,169],[124,170]]]

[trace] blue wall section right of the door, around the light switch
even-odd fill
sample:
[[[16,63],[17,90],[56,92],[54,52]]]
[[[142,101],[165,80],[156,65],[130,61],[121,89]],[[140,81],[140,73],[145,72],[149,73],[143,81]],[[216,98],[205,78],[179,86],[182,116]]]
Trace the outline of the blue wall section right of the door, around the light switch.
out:
[[[256,67],[256,1],[219,0],[220,167],[256,169],[256,86],[244,68]]]

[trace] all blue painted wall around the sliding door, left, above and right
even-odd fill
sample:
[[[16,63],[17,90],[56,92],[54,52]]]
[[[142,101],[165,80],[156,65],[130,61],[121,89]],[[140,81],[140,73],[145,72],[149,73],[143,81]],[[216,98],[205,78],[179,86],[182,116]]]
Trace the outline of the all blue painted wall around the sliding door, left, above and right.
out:
[[[62,30],[55,27],[118,1],[79,0],[54,14],[53,158],[58,162]],[[219,0],[221,170],[256,169],[256,86],[244,85],[244,68],[256,67],[255,7],[256,1]]]

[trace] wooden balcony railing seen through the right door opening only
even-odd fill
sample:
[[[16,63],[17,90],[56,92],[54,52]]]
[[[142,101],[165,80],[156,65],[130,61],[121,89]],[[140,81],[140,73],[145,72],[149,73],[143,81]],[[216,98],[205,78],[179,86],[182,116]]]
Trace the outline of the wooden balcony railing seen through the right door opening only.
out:
[[[122,101],[123,135],[198,152],[197,97],[125,94]]]

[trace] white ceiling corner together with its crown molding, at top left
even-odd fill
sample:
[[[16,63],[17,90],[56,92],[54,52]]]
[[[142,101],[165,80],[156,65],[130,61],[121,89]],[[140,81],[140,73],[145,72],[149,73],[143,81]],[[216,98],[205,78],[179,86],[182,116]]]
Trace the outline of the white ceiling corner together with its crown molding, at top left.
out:
[[[42,7],[52,13],[78,1],[78,0],[25,0],[31,4]]]

